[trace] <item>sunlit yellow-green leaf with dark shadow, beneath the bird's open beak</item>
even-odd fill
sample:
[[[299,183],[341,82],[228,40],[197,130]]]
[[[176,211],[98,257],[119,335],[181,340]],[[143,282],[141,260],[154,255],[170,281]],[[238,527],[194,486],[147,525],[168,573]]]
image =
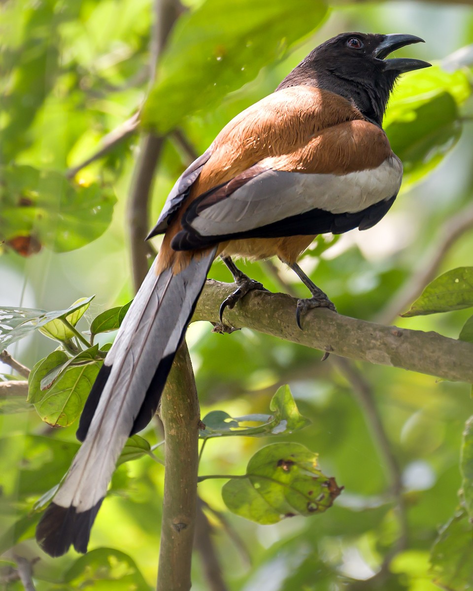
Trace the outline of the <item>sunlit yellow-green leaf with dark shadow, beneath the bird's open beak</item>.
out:
[[[388,103],[384,128],[404,177],[418,180],[453,147],[462,129],[458,107],[470,95],[463,70],[449,73],[433,66],[403,76]]]

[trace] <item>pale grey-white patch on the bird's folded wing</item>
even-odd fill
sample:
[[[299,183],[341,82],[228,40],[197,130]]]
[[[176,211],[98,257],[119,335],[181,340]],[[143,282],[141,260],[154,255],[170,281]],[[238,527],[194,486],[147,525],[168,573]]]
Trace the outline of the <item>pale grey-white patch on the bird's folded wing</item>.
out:
[[[396,195],[401,178],[402,165],[394,155],[377,168],[344,175],[255,165],[193,202],[184,214],[183,227],[200,238],[231,238],[313,210],[357,213]]]

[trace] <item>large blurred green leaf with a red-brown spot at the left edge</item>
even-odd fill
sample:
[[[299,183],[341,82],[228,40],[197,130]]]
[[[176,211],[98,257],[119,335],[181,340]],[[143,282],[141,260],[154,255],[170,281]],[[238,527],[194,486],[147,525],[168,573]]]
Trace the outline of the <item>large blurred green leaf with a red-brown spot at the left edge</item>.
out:
[[[36,250],[72,251],[105,232],[115,202],[114,191],[97,183],[80,186],[31,166],[0,167],[0,239],[17,250],[16,239],[34,238]]]

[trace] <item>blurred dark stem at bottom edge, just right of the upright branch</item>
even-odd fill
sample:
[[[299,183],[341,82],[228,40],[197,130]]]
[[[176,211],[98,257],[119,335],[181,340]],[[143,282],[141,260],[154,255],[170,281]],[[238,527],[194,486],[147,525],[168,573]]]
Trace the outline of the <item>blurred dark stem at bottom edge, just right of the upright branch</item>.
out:
[[[212,526],[203,512],[206,504],[197,496],[197,515],[194,545],[202,560],[203,572],[206,579],[206,589],[209,591],[228,591],[222,577],[215,544],[212,540]]]

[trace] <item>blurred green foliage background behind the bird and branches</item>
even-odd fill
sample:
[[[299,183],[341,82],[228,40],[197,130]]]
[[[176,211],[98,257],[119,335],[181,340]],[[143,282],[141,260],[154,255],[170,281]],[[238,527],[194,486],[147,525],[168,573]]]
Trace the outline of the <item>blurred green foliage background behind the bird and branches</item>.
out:
[[[406,170],[400,196],[375,228],[321,239],[302,266],[342,314],[458,337],[471,310],[396,316],[431,278],[426,268],[472,264],[469,2],[191,0],[176,9],[164,0],[7,0],[0,18],[1,306],[61,310],[96,294],[77,324],[83,330],[126,304],[136,245],[129,196],[140,196],[150,141],[157,167],[146,227],[193,155],[317,44],[342,31],[410,33],[426,44],[397,54],[435,66],[404,76],[388,109],[385,128]],[[274,262],[247,271],[272,291],[304,294]],[[210,276],[229,281],[219,263]],[[289,384],[312,424],[284,440],[318,452],[345,491],[325,514],[263,526],[228,513],[221,480],[201,483],[213,547],[196,552],[193,589],[473,589],[472,527],[458,496],[468,385],[367,363],[347,370],[248,330],[210,329],[192,325],[187,337],[202,415],[269,413],[271,396]],[[9,353],[31,368],[55,346],[34,333]],[[5,380],[20,377],[0,369]],[[20,556],[34,562],[38,591],[153,587],[163,467],[147,456],[121,465],[92,551],[52,560],[31,539],[32,508],[66,472],[75,425],[53,430],[24,396],[0,397],[0,584],[23,588]],[[155,426],[143,436],[151,444],[161,437]],[[243,473],[264,443],[209,441],[200,472]],[[209,575],[209,553],[225,584]]]

